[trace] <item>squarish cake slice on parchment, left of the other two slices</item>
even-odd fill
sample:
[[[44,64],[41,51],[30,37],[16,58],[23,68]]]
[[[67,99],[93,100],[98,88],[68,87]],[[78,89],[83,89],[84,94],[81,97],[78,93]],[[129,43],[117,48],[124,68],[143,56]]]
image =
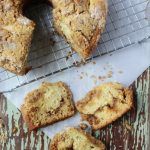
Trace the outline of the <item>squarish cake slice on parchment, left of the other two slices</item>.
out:
[[[64,120],[75,113],[72,93],[63,82],[42,83],[27,94],[21,112],[30,130]]]

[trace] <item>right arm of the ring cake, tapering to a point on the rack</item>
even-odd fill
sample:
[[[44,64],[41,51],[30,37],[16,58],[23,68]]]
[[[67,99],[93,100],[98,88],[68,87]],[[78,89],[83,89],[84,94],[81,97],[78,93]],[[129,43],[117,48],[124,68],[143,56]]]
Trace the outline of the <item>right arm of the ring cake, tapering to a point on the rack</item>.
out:
[[[106,0],[51,0],[54,26],[73,50],[88,58],[104,30],[107,16]]]

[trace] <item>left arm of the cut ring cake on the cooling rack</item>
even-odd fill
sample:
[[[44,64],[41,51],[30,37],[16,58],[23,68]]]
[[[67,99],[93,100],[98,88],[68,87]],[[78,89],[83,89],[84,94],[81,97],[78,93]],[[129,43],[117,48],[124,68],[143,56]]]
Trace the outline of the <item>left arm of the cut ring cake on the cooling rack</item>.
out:
[[[22,15],[24,0],[0,1],[0,67],[26,73],[34,22]]]

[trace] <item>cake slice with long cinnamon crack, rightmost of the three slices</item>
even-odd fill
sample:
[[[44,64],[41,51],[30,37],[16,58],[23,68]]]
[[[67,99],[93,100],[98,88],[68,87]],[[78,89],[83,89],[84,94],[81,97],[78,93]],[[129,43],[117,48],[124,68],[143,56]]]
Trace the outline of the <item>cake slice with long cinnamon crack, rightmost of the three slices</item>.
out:
[[[101,129],[133,108],[133,91],[120,83],[104,83],[76,103],[83,120]]]

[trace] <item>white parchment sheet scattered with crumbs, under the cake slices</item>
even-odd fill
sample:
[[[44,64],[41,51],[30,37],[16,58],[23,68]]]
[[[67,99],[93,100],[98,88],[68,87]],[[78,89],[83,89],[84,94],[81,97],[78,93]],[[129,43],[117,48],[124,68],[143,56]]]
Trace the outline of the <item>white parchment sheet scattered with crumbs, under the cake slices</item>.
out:
[[[37,88],[41,82],[64,81],[67,83],[73,93],[76,102],[91,90],[94,86],[107,81],[117,81],[124,85],[130,85],[148,66],[150,65],[150,41],[128,47],[126,50],[120,50],[94,59],[96,64],[88,63],[85,66],[71,68],[67,71],[52,75],[29,85],[23,86],[11,93],[5,94],[6,97],[16,106],[20,107],[25,95]],[[97,80],[98,76],[105,76],[112,71],[112,77],[104,81]],[[75,116],[65,121],[55,123],[42,130],[52,138],[57,132],[65,127],[77,126],[80,122],[80,116]]]

